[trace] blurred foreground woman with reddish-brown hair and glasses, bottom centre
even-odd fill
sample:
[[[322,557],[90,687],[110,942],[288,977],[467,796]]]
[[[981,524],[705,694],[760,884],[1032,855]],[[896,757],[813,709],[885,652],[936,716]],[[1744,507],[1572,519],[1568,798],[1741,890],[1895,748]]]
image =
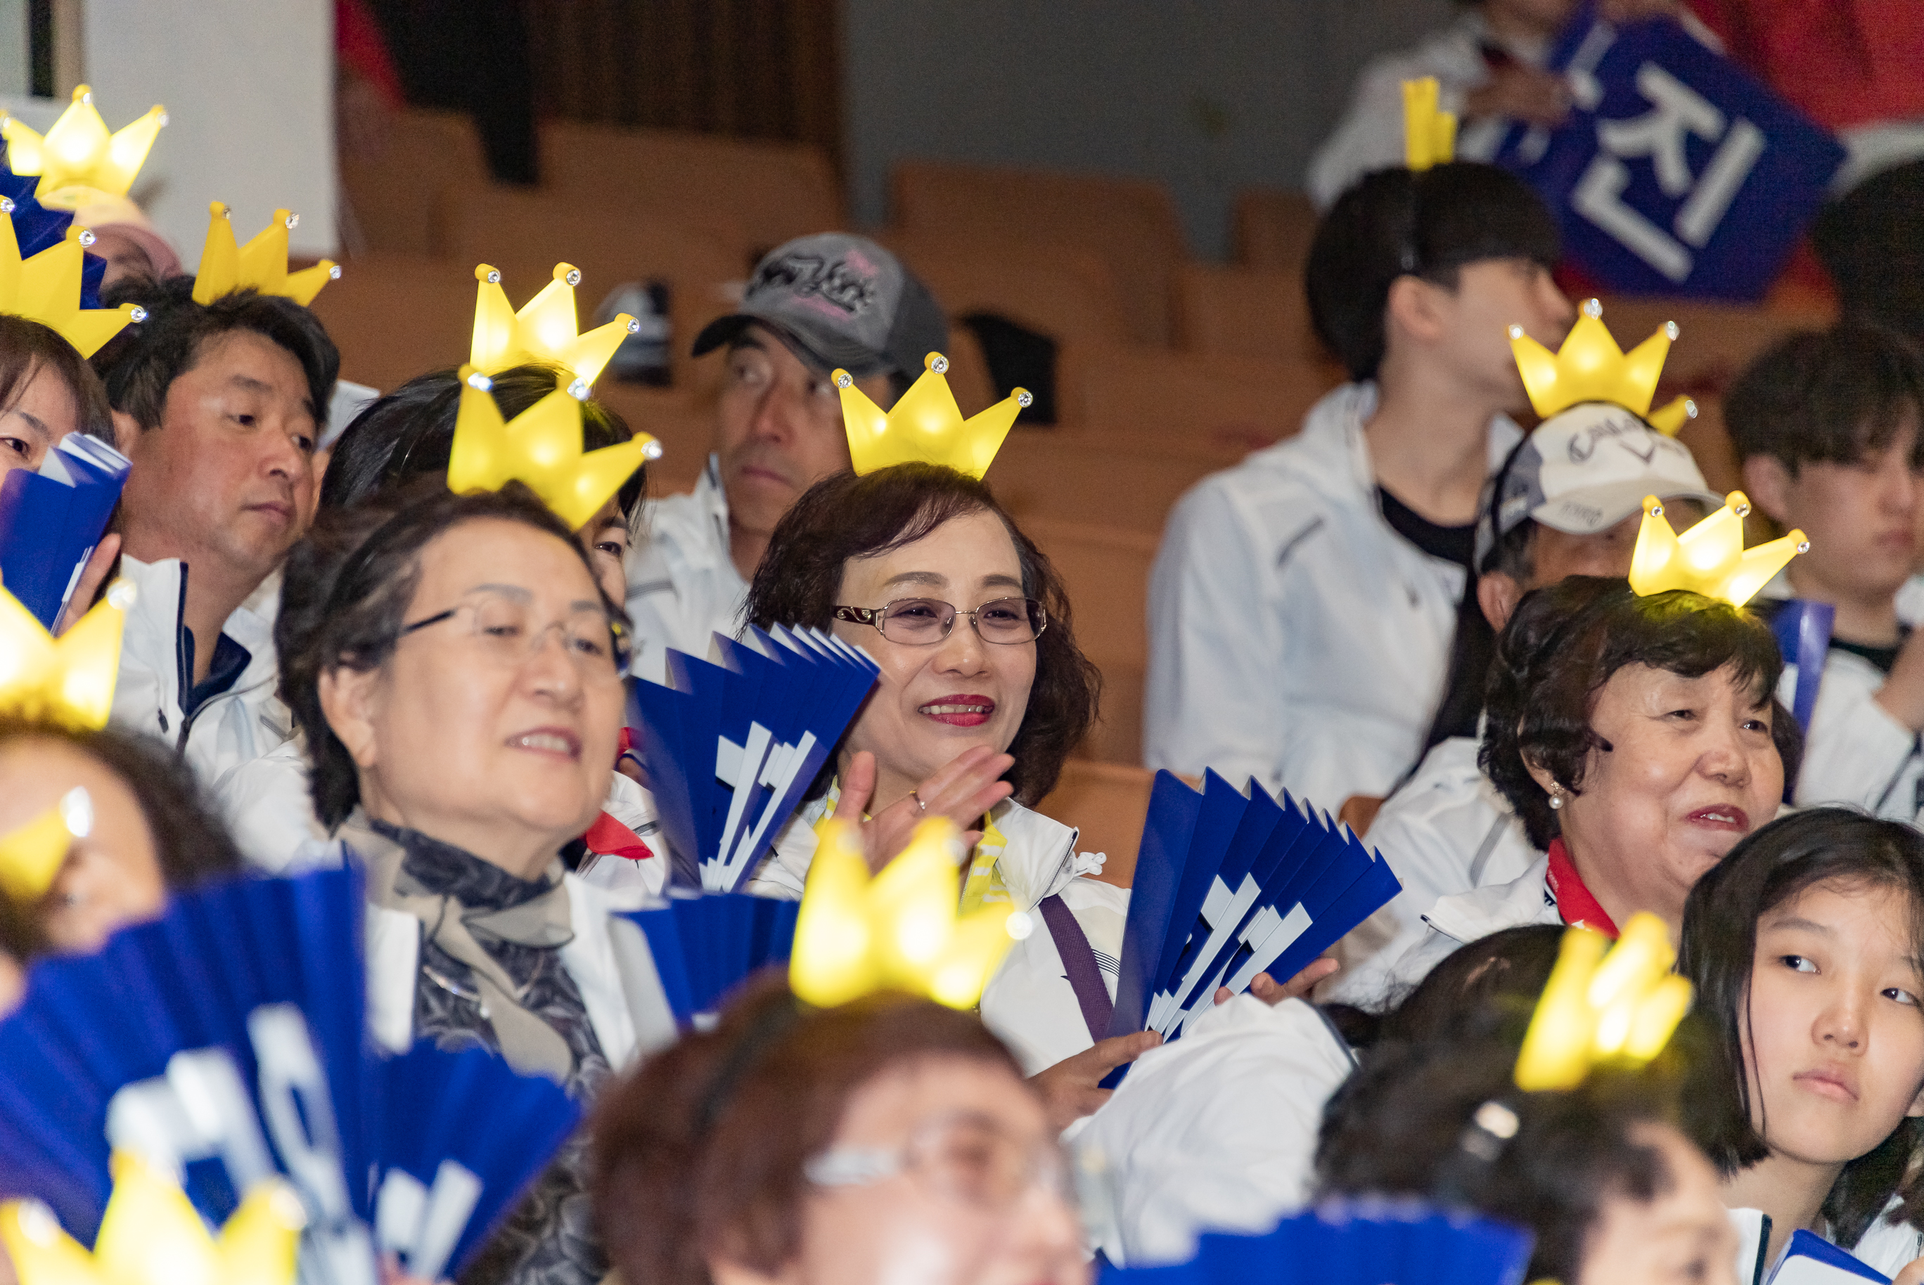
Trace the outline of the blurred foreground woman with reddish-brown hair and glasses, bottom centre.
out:
[[[779,981],[612,1089],[595,1212],[625,1285],[1083,1285],[1054,1127],[979,1021]]]

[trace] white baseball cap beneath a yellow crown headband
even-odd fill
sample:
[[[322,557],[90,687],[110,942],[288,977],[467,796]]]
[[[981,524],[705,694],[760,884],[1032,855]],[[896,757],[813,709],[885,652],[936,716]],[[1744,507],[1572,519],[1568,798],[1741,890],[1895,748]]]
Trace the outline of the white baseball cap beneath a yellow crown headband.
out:
[[[1720,508],[1689,446],[1612,402],[1551,416],[1524,439],[1497,477],[1476,529],[1476,560],[1526,517],[1570,535],[1608,531],[1643,508],[1643,496]]]

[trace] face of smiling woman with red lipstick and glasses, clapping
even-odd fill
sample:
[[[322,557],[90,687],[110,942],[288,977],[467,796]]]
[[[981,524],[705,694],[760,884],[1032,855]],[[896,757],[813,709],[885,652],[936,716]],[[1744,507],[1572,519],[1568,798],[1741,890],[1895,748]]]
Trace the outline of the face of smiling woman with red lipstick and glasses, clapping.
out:
[[[899,598],[941,598],[972,612],[997,598],[1020,598],[1022,562],[995,514],[950,517],[912,544],[843,567],[837,606],[883,608]],[[956,754],[977,744],[1002,752],[1022,729],[1035,685],[1035,641],[983,642],[970,617],[956,616],[949,637],[912,646],[873,625],[835,621],[835,633],[881,664],[881,683],[848,731],[847,756],[875,756],[875,802],[904,798]],[[845,762],[847,766],[847,762]]]

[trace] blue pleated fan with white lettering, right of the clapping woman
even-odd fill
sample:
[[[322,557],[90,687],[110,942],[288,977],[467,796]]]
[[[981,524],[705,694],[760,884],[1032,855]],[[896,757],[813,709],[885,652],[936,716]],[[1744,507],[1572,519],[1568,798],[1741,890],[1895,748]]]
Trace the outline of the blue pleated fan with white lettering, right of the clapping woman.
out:
[[[1110,1035],[1183,1033],[1218,987],[1293,977],[1403,887],[1328,814],[1210,771],[1156,773],[1135,862]]]

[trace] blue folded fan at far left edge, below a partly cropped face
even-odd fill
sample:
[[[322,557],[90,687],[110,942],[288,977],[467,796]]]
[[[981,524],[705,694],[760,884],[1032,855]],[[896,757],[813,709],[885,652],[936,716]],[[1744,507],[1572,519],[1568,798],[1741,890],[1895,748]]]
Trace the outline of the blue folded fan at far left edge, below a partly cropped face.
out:
[[[48,629],[108,529],[129,467],[98,437],[69,433],[38,471],[0,481],[0,581]]]

